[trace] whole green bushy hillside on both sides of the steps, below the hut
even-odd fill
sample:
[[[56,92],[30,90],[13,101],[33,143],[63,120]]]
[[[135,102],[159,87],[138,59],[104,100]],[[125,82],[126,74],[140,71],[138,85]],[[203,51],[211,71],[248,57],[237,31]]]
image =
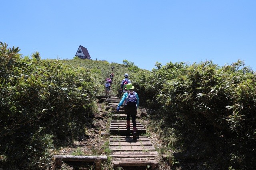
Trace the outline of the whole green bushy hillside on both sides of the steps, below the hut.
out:
[[[42,60],[18,51],[0,44],[0,167],[50,167],[50,150],[86,138],[114,66],[112,88],[129,73],[148,112],[141,121],[172,169],[256,169],[256,74],[243,61],[156,63],[147,71],[127,60]]]

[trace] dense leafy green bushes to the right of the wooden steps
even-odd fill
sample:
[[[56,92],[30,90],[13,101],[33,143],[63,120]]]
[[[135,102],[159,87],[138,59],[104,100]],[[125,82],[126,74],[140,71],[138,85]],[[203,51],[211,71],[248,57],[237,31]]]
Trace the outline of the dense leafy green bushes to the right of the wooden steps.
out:
[[[138,74],[135,85],[142,103],[156,109],[149,117],[152,130],[180,166],[256,168],[255,73],[242,61],[156,66],[149,75]]]

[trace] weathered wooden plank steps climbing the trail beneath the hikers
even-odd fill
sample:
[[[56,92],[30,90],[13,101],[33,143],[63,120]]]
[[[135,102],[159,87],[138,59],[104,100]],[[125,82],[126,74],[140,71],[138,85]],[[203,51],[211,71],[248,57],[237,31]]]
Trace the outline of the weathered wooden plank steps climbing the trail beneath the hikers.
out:
[[[118,97],[108,98],[108,105],[118,104],[121,99]],[[146,129],[136,121],[137,140],[133,140],[132,121],[130,121],[130,130],[126,130],[126,114],[123,108],[120,111],[112,111],[112,121],[110,123],[109,148],[112,150],[112,162],[114,167],[141,167],[151,166],[152,170],[158,167],[155,157],[158,152],[150,142],[148,136],[145,136]],[[135,168],[139,169],[139,168]]]

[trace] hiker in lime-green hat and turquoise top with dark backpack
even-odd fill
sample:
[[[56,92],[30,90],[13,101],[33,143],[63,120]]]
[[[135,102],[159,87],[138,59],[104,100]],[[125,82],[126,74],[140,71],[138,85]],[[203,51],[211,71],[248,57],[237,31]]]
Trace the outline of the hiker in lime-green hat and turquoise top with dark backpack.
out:
[[[124,103],[124,111],[126,113],[126,129],[129,130],[130,132],[130,116],[132,117],[132,127],[133,127],[133,132],[132,132],[132,139],[137,140],[137,134],[136,134],[136,114],[137,114],[137,107],[139,106],[139,97],[138,94],[133,91],[134,86],[132,83],[126,84],[126,90],[127,92],[124,93],[120,103],[118,104],[116,111],[120,110],[120,106]]]

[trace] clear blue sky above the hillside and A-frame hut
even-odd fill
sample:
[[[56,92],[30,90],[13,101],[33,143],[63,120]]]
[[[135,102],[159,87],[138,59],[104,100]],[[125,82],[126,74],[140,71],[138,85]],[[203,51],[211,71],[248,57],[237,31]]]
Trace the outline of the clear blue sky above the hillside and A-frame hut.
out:
[[[79,45],[92,59],[124,59],[151,70],[156,61],[223,66],[243,60],[256,70],[256,0],[8,0],[0,41],[72,59]]]

